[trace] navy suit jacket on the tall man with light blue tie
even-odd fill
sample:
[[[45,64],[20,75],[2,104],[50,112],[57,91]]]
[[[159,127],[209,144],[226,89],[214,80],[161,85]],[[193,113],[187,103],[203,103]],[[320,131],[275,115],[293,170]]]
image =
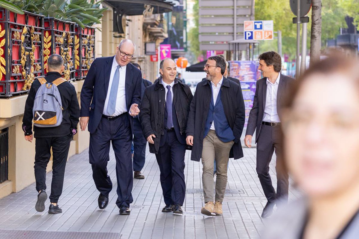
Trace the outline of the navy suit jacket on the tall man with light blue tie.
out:
[[[111,75],[112,57],[98,57],[92,62],[81,89],[81,117],[89,116],[88,130],[94,133],[100,123]],[[131,63],[126,67],[125,94],[127,110],[141,102],[142,73]],[[128,115],[133,133],[133,117]]]

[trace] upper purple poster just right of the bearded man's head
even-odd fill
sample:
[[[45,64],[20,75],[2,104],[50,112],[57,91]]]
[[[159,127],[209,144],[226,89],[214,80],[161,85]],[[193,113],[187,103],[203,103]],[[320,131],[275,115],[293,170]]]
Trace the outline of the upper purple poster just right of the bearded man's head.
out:
[[[230,76],[240,81],[256,81],[260,78],[257,64],[256,61],[230,61]]]

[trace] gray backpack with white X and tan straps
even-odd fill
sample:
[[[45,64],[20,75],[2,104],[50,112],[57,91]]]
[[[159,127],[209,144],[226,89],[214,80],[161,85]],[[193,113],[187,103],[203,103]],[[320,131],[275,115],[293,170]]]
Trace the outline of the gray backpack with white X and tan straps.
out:
[[[36,92],[32,113],[34,126],[56,127],[62,122],[62,102],[57,86],[64,83],[64,78],[57,78],[53,82],[46,82],[45,78],[38,78],[41,83]]]

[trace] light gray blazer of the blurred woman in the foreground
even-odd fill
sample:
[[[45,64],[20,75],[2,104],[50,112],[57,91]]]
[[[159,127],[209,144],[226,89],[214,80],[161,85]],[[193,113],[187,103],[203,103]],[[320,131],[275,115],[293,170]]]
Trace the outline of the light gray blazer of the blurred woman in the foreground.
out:
[[[264,220],[265,229],[261,239],[299,239],[308,211],[305,197],[280,207],[268,220]],[[359,214],[351,221],[340,239],[354,239],[359,235]],[[335,235],[333,235],[335,236]]]

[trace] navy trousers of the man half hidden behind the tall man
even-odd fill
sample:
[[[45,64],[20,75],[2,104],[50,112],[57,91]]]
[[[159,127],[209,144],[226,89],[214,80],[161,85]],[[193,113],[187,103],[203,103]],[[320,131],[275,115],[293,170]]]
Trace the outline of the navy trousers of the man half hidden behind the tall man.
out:
[[[145,165],[146,143],[140,121],[134,118],[134,158],[132,160],[134,171],[141,171]]]

